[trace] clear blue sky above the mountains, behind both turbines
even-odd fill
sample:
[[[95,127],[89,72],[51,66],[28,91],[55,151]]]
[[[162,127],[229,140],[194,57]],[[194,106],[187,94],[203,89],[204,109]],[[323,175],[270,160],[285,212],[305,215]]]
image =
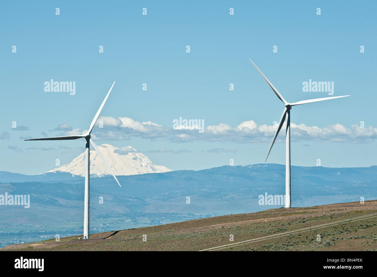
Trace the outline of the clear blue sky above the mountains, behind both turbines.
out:
[[[95,127],[97,145],[130,145],[173,170],[228,165],[230,159],[234,165],[263,163],[271,126],[284,105],[248,58],[288,102],[351,95],[293,107],[292,165],[315,166],[317,159],[329,167],[376,165],[376,6],[2,2],[0,170],[38,174],[55,168],[55,159],[63,165],[81,154],[83,140],[25,142],[20,137],[87,130],[113,81],[101,115],[115,125]],[[45,92],[50,79],[75,82],[75,95]],[[334,82],[334,94],[303,92],[309,79]],[[202,119],[209,129],[201,134],[173,130],[179,117]],[[285,163],[285,132],[280,133],[267,162]],[[179,134],[187,139],[176,139]]]

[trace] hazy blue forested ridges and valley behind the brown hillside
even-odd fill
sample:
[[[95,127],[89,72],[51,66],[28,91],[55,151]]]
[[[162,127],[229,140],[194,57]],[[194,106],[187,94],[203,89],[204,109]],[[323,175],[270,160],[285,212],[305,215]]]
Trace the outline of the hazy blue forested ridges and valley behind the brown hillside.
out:
[[[292,166],[291,174],[293,207],[377,199],[377,166]],[[279,208],[259,205],[258,196],[285,193],[285,166],[277,164],[117,178],[121,188],[111,175],[90,179],[91,232]],[[84,177],[72,172],[30,176],[0,171],[0,195],[5,193],[29,194],[31,204],[0,206],[0,246],[82,234]]]

